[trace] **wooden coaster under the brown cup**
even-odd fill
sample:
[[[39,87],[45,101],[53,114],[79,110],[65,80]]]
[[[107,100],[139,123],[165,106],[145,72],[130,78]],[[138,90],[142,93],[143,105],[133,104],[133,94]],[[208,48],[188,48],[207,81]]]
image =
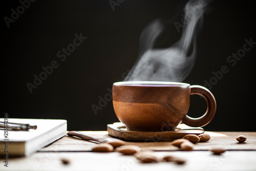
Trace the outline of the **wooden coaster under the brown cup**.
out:
[[[187,134],[200,135],[204,133],[202,127],[191,127],[179,124],[175,131],[146,132],[146,131],[127,131],[121,122],[107,125],[109,135],[124,141],[174,141]]]

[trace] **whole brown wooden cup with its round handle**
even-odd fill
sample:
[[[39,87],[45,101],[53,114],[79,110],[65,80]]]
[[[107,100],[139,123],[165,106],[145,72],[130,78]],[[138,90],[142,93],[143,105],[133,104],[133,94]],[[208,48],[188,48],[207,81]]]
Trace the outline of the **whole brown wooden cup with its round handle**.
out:
[[[187,116],[193,94],[207,102],[207,110],[199,118]],[[209,90],[181,82],[115,82],[113,105],[117,118],[129,131],[174,131],[181,122],[204,126],[216,112],[216,100]]]

